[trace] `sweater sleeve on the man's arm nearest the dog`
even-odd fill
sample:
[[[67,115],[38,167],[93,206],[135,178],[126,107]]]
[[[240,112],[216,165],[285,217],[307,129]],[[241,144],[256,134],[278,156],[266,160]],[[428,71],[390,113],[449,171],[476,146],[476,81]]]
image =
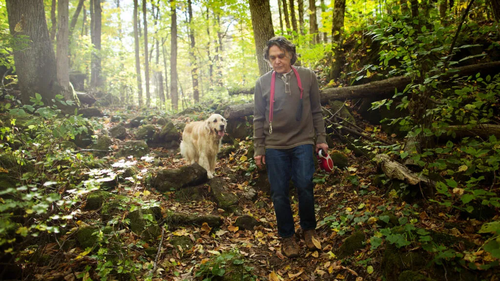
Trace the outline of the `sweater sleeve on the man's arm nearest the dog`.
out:
[[[322,119],[321,119],[322,121]],[[253,147],[254,155],[265,155],[264,146],[265,99],[262,96],[260,78],[255,83],[253,91]],[[324,130],[324,128],[323,128]]]

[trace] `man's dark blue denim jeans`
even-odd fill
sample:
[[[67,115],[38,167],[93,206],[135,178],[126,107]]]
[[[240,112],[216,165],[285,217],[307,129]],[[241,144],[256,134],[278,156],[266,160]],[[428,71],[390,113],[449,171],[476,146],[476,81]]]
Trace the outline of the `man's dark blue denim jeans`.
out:
[[[291,180],[298,194],[298,215],[302,230],[316,228],[314,214],[314,158],[312,144],[299,145],[289,149],[265,149],[265,165],[271,198],[278,226],[278,234],[285,238],[295,233],[293,215],[288,196],[288,182]]]

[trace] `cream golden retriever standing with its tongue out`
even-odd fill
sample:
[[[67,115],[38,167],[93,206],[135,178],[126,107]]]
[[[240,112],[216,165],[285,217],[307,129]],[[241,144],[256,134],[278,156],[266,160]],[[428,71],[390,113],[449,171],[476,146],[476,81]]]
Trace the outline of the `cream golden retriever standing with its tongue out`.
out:
[[[220,114],[212,114],[204,121],[187,124],[182,132],[180,154],[189,164],[205,168],[208,178],[215,173],[215,157],[224,136],[227,121]]]

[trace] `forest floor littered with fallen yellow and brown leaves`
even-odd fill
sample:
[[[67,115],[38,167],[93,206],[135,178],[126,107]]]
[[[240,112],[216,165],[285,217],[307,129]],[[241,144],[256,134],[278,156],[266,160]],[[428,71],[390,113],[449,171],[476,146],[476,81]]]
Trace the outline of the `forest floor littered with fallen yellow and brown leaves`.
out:
[[[133,117],[138,115],[138,112],[127,114]],[[174,123],[185,123],[192,121],[193,116],[195,119],[203,119],[206,113],[195,112],[189,116],[169,117]],[[107,117],[100,118],[99,121],[106,130],[118,123],[110,122]],[[154,123],[154,120],[152,122]],[[358,125],[367,130],[373,130],[373,126],[366,123],[358,123]],[[378,131],[379,137],[387,139],[388,136],[385,133]],[[129,133],[129,135],[133,134]],[[116,151],[123,141],[113,139],[111,148]],[[322,249],[317,251],[306,249],[298,226],[296,193],[291,190],[297,238],[300,239],[299,245],[302,250],[299,257],[286,258],[280,250],[280,239],[270,196],[262,190],[263,186],[258,186],[259,173],[254,166],[252,167],[250,161],[253,156],[250,155],[253,153],[249,152],[252,150],[252,141],[250,138],[238,141],[235,151],[217,159],[215,169],[215,177],[221,178],[225,189],[239,198],[238,214],[227,213],[213,202],[210,197],[209,182],[196,186],[202,194],[202,198],[198,200],[183,198],[175,190],[161,193],[145,183],[147,181],[145,179],[148,176],[154,176],[158,170],[177,169],[186,165],[185,159],[180,157],[178,149],[175,148],[150,148],[149,155],[154,158],[135,159],[137,160],[135,165],[140,170],[137,174],[138,180],[135,183],[126,181],[115,186],[114,190],[108,190],[115,194],[140,198],[144,202],[159,202],[163,217],[166,217],[169,212],[212,214],[222,217],[220,227],[210,227],[205,223],[177,227],[168,227],[165,224],[162,226],[163,235],[161,237],[158,235],[154,241],[150,242],[141,241],[140,236],[132,232],[126,223],[119,224],[122,228],[119,231],[120,237],[124,241],[121,246],[127,248],[128,257],[135,262],[135,265],[129,266],[141,267],[139,268],[140,274],[129,273],[128,277],[138,280],[148,279],[147,272],[153,267],[153,263],[156,263],[157,269],[152,274],[152,280],[198,280],[203,279],[203,276],[215,279],[218,275],[225,275],[224,280],[395,280],[387,277],[390,275],[387,270],[400,268],[390,268],[390,263],[384,261],[384,245],[372,247],[369,241],[370,233],[380,230],[382,228],[380,225],[388,225],[378,218],[387,211],[393,213],[394,219],[401,224],[413,218],[412,223],[416,227],[465,238],[475,242],[476,249],[482,244],[483,240],[479,234],[476,234],[481,224],[480,221],[459,219],[458,213],[445,213],[442,209],[437,209],[435,205],[429,204],[421,196],[419,198],[416,196],[411,203],[406,203],[395,191],[374,183],[374,178],[379,172],[373,162],[366,157],[355,156],[344,144],[335,142],[335,146],[330,147],[330,152],[338,151],[346,155],[348,166],[344,169],[336,168],[329,174],[317,169],[314,175],[315,209],[318,222],[316,230]],[[223,144],[222,149],[227,146],[228,144]],[[109,165],[116,163],[118,159],[114,153],[111,152],[103,157]],[[255,189],[257,195],[252,199],[247,199],[244,193],[250,188]],[[82,204],[81,211],[75,212],[75,217],[70,224],[79,227],[83,224],[104,223],[99,216],[100,209],[85,211],[83,207]],[[242,214],[249,214],[261,225],[252,230],[239,229],[234,226],[234,222]],[[120,214],[122,220],[126,215],[127,210]],[[391,217],[391,222],[392,220]],[[397,222],[393,224],[398,225]],[[359,233],[362,233],[361,237]],[[51,259],[43,266],[31,267],[35,270],[37,279],[63,278],[67,281],[81,277],[83,279],[99,278],[98,269],[88,270],[86,267],[90,265],[95,268],[94,266],[98,264],[92,253],[85,251],[81,246],[70,247],[67,250],[60,249],[62,248],[59,245],[60,242],[71,238],[73,234],[73,232],[68,232],[59,237],[58,241],[51,242],[43,248],[43,254],[48,254]],[[187,237],[191,240],[192,246],[188,248],[172,246],[170,241],[176,237]],[[160,240],[162,244],[158,245]],[[160,246],[160,251],[157,253],[158,246]],[[148,251],[150,253],[147,254],[147,248],[154,250]],[[408,251],[418,250],[419,246],[408,249]],[[473,255],[478,262],[485,262],[484,260],[488,259],[485,253],[474,252]],[[241,266],[238,267],[239,269],[233,268],[233,265],[241,263],[243,269]],[[236,270],[239,270],[237,274],[234,274],[236,278],[228,278],[231,271],[236,272]],[[196,276],[196,273],[200,271],[204,274]],[[109,279],[120,276],[114,275],[114,272],[109,274]],[[123,276],[119,279],[123,279]]]

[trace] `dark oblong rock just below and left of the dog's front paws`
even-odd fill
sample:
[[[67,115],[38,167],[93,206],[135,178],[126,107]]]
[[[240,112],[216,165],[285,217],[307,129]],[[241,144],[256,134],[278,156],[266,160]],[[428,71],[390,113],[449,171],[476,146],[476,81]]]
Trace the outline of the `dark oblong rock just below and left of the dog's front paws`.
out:
[[[151,181],[151,186],[160,192],[178,190],[185,186],[194,186],[205,182],[206,170],[194,163],[178,169],[162,169]]]

